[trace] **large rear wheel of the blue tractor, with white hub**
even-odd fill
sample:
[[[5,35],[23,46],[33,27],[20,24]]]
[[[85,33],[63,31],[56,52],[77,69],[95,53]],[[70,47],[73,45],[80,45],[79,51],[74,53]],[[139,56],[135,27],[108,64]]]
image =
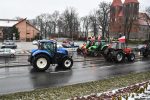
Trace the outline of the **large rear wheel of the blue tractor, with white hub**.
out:
[[[39,54],[33,59],[33,67],[38,71],[45,71],[50,66],[50,59],[47,55]]]

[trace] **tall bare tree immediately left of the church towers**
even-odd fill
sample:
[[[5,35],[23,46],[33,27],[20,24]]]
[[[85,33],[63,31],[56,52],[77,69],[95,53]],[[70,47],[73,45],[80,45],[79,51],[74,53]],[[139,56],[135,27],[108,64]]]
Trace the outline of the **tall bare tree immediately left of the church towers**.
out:
[[[99,29],[102,30],[102,37],[105,35],[109,36],[109,20],[110,20],[110,3],[101,2],[99,4],[99,9],[97,11],[98,16],[98,26]]]

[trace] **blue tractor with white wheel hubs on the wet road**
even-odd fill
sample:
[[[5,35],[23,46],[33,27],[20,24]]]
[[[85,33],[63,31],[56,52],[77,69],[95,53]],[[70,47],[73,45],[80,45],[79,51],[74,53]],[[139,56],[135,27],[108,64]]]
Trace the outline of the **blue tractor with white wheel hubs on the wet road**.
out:
[[[45,71],[50,64],[58,64],[59,67],[70,69],[73,66],[72,57],[64,48],[57,48],[55,40],[39,40],[36,43],[38,49],[34,49],[28,61],[38,71]]]

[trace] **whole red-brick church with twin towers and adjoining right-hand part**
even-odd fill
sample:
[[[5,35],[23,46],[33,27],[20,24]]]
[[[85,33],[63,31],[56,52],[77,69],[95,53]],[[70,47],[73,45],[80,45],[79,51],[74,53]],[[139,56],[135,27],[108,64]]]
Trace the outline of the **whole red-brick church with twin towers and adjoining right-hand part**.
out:
[[[141,27],[148,27],[140,15],[138,0],[113,0],[110,10],[110,36],[119,37],[119,34],[130,33],[130,39],[146,39]],[[143,34],[144,33],[144,34]],[[147,33],[146,33],[147,34]]]

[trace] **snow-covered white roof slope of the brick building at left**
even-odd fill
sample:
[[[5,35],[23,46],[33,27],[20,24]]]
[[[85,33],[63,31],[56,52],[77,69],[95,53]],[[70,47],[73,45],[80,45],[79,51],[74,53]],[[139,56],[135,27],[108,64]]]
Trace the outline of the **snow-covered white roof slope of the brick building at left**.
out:
[[[18,22],[18,20],[0,19],[0,27],[12,27]]]

